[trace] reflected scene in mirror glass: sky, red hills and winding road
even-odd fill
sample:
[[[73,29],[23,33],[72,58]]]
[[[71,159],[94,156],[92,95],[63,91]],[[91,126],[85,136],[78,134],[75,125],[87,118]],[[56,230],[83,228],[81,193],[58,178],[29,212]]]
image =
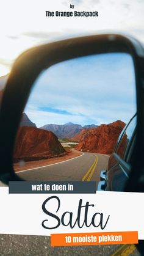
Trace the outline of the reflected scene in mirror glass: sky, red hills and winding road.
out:
[[[96,181],[136,112],[126,53],[53,65],[35,81],[15,141],[13,166],[26,180]]]

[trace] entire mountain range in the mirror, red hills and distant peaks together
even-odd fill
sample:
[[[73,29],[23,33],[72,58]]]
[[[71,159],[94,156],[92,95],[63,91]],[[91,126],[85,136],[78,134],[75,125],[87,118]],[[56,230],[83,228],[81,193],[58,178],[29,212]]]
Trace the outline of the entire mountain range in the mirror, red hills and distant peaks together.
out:
[[[69,138],[79,142],[76,145],[77,150],[110,155],[115,148],[118,136],[123,130],[125,123],[117,120],[107,125],[102,124],[96,126],[92,124],[81,126],[70,122],[65,123],[65,125],[49,124],[41,128],[36,128],[35,123],[32,123],[27,115],[23,113],[20,126],[31,127],[20,127],[21,130],[19,130],[17,136],[17,145],[21,142],[21,147],[23,147],[21,150],[20,147],[16,147],[15,159],[22,157],[30,159],[28,156],[31,156],[32,159],[40,159],[41,157],[49,157],[50,155],[54,156],[54,148],[59,152],[58,155],[63,152],[63,148],[60,148],[59,141],[56,139],[57,137]],[[54,136],[57,137],[54,138]],[[49,141],[49,137],[52,140]],[[38,141],[36,138],[39,138]],[[43,138],[45,139],[43,140]],[[26,148],[28,154],[25,154]]]

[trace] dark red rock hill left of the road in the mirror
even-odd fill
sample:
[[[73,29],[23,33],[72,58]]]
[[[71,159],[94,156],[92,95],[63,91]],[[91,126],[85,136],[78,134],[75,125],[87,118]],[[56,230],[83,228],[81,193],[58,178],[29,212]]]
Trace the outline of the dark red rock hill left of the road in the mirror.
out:
[[[56,135],[35,127],[20,127],[15,141],[13,161],[32,161],[62,156],[66,152]]]

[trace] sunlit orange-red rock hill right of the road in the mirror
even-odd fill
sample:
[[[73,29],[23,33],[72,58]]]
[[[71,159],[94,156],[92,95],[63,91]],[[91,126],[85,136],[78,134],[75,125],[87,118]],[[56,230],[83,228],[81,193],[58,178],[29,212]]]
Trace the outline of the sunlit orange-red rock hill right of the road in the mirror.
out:
[[[79,141],[76,149],[110,155],[124,126],[124,122],[117,120],[109,123],[109,125],[100,125],[98,128],[82,130],[81,133],[73,137],[73,140]]]

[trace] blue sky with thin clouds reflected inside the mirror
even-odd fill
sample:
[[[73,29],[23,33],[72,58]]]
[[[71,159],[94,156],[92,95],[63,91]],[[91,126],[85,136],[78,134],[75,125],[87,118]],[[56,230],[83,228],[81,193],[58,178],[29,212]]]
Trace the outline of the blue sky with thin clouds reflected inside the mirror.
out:
[[[98,54],[56,64],[35,81],[26,109],[38,127],[67,122],[87,125],[128,122],[135,114],[131,56]]]

